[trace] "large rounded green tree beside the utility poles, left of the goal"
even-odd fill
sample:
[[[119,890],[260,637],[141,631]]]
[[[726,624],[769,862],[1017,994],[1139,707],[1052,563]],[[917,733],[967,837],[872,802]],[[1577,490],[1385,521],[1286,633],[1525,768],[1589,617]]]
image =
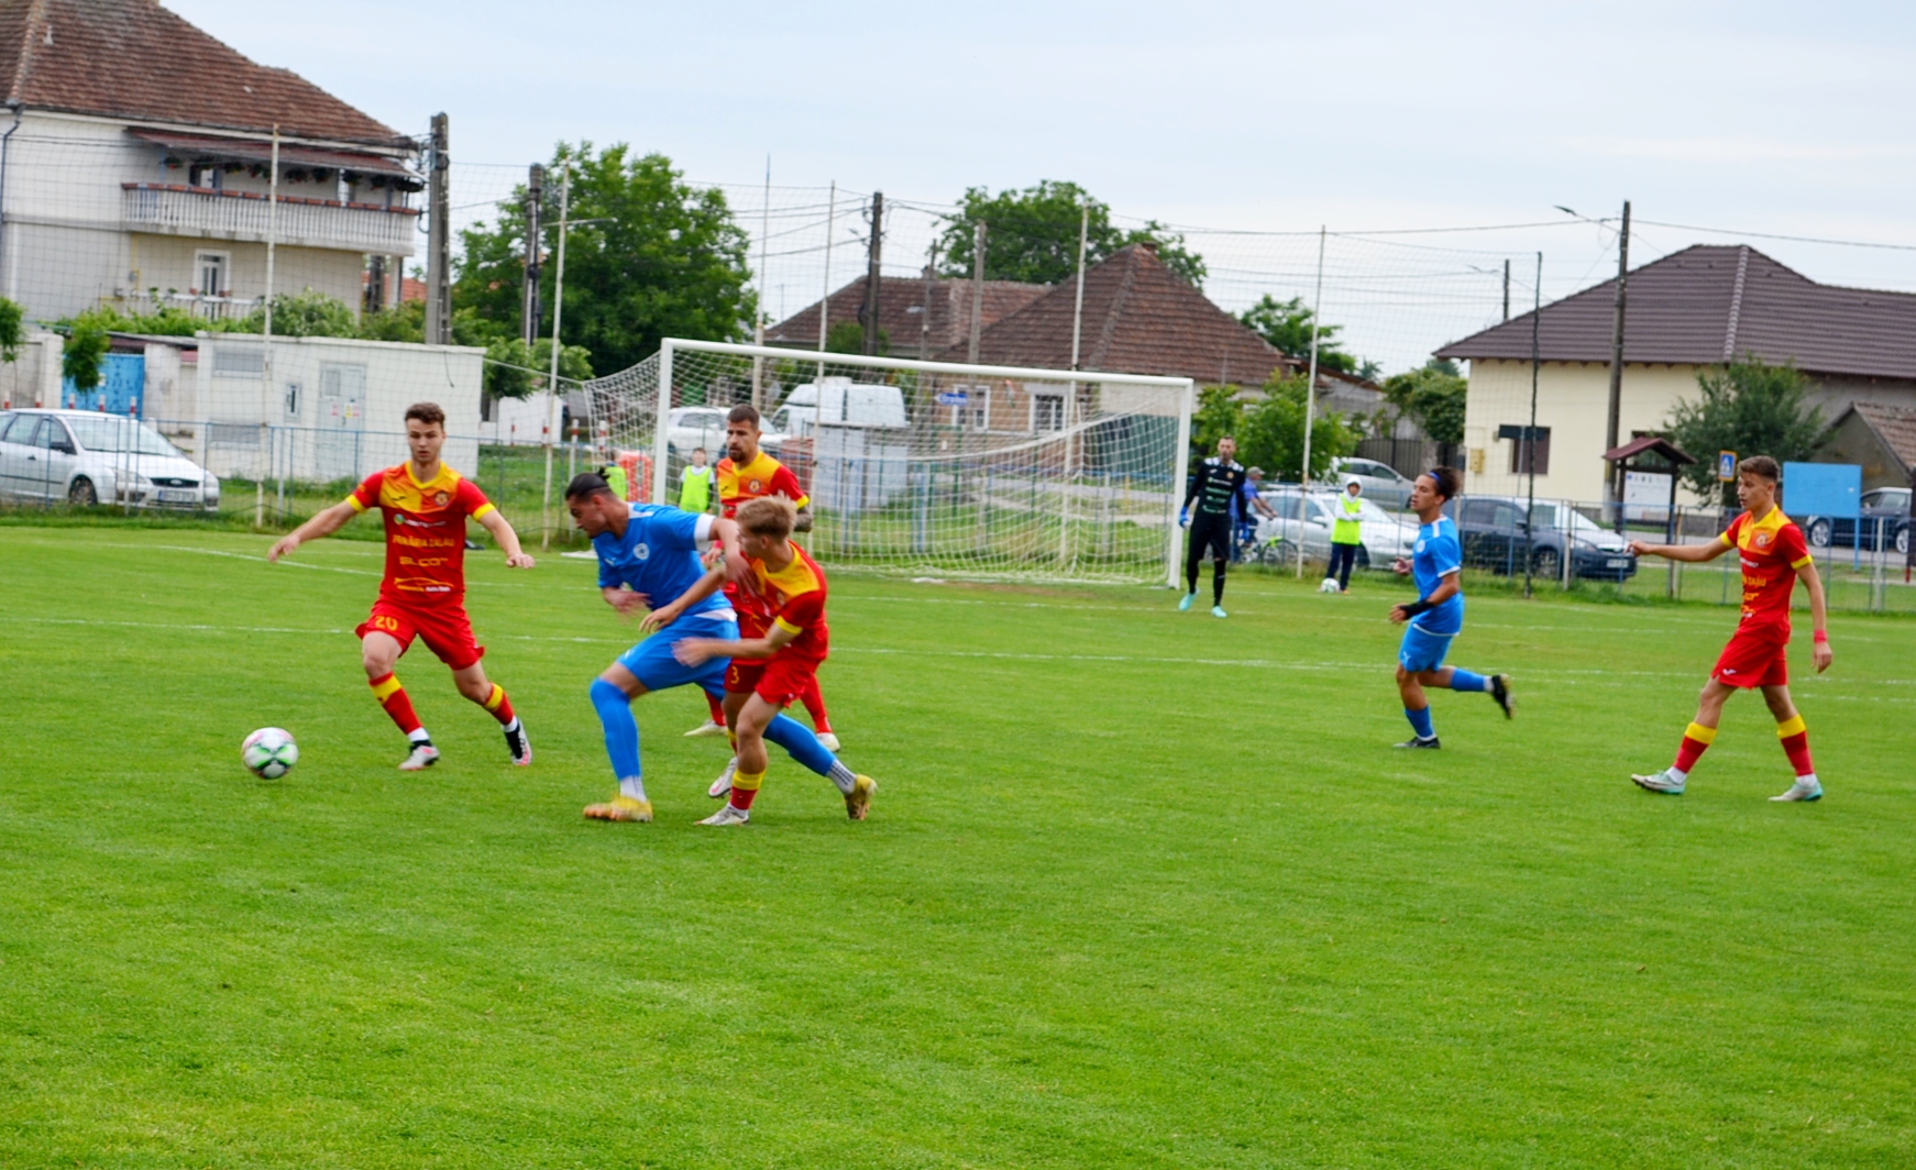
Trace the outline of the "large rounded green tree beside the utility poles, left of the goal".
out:
[[[565,335],[600,370],[636,366],[663,337],[740,341],[751,333],[757,295],[747,287],[747,237],[718,190],[684,182],[665,155],[634,157],[625,144],[596,151],[559,144],[540,213],[548,262],[540,266],[538,331],[550,333],[558,278],[559,176],[571,170],[565,239]],[[498,205],[492,224],[462,232],[452,303],[521,337],[525,193]]]

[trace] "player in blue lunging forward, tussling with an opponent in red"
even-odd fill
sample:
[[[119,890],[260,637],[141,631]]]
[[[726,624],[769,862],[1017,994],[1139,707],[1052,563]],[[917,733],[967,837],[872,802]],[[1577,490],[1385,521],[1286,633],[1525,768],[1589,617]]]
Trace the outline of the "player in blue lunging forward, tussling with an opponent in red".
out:
[[[600,594],[619,613],[650,611],[640,628],[644,641],[619,655],[592,680],[592,707],[605,728],[605,754],[611,758],[619,793],[586,806],[586,816],[604,821],[650,821],[651,800],[638,764],[638,724],[632,699],[648,691],[697,686],[724,695],[726,659],[686,666],[673,647],[686,638],[738,638],[738,613],[722,596],[686,599],[705,576],[699,553],[717,538],[726,550],[726,569],[745,573],[738,553],[738,525],[715,515],[694,515],[676,507],[627,504],[600,475],[581,475],[565,488],[565,507],[573,523],[592,538],[600,557]]]

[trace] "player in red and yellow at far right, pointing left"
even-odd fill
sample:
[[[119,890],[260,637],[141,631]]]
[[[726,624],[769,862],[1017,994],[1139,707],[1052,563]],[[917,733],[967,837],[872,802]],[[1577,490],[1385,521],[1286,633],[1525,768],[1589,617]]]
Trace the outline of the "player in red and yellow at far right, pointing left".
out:
[[[1744,615],[1736,626],[1736,636],[1722,647],[1717,668],[1703,684],[1703,697],[1696,707],[1696,720],[1684,731],[1676,749],[1676,762],[1652,776],[1632,776],[1638,787],[1652,793],[1682,795],[1690,770],[1703,751],[1717,739],[1717,722],[1722,718],[1722,703],[1738,689],[1761,689],[1770,714],[1776,716],[1776,737],[1784,754],[1795,768],[1797,779],[1790,791],[1770,800],[1820,800],[1822,783],[1816,779],[1816,766],[1809,758],[1809,731],[1795,703],[1790,701],[1790,592],[1801,578],[1809,590],[1809,619],[1814,630],[1811,657],[1816,674],[1830,668],[1830,630],[1822,578],[1816,576],[1816,563],[1809,557],[1803,529],[1790,523],[1790,517],[1776,507],[1776,483],[1782,469],[1768,456],[1753,456],[1736,465],[1736,500],[1744,513],[1730,521],[1730,527],[1709,544],[1646,544],[1631,542],[1636,555],[1669,557],[1671,561],[1715,561],[1722,553],[1736,550],[1744,565]]]

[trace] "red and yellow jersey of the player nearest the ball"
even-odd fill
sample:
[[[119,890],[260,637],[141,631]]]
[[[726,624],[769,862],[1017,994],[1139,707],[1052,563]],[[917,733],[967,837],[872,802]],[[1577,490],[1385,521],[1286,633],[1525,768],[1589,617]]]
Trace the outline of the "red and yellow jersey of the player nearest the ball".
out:
[[[347,496],[353,511],[385,513],[385,580],[379,597],[397,605],[460,605],[466,599],[466,517],[494,511],[485,492],[445,463],[431,483],[412,463],[374,471]]]

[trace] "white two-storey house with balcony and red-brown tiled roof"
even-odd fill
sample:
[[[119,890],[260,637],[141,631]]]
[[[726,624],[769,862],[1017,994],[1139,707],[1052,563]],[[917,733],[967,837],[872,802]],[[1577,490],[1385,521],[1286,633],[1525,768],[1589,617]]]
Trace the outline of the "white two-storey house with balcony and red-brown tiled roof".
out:
[[[0,0],[0,291],[29,320],[243,316],[268,239],[276,291],[397,299],[418,146],[299,75],[155,0]]]

